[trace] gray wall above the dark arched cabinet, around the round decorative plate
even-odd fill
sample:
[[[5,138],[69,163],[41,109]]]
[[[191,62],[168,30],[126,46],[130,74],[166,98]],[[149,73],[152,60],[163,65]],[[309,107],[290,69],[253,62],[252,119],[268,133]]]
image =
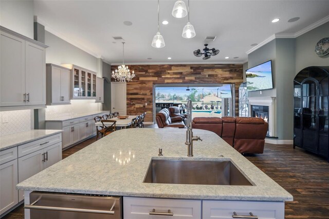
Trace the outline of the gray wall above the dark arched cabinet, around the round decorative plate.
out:
[[[329,37],[329,22],[296,38],[296,74],[308,66],[329,66],[329,54],[319,57],[315,45],[322,38]]]

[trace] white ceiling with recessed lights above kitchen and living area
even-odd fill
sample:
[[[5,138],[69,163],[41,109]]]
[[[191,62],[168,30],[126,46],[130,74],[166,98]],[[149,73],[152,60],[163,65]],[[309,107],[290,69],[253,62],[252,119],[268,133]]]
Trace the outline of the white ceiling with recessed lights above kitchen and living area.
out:
[[[187,1],[185,0],[186,4]],[[329,15],[329,1],[190,1],[190,22],[196,36],[181,37],[187,17],[171,15],[175,1],[160,1],[160,32],[164,48],[153,48],[157,32],[157,1],[34,1],[34,14],[46,30],[108,63],[243,63],[251,44],[260,44],[273,34],[295,34]],[[275,18],[278,23],[271,23]],[[300,19],[293,23],[293,17]],[[168,25],[161,22],[167,20]],[[131,21],[131,26],[123,24]],[[195,57],[204,48],[206,36],[217,36],[209,48],[220,50],[209,60]],[[319,39],[320,40],[320,39]],[[167,58],[171,57],[171,60]],[[229,57],[229,59],[225,59]],[[233,57],[239,57],[233,59]],[[152,58],[149,60],[147,58]]]

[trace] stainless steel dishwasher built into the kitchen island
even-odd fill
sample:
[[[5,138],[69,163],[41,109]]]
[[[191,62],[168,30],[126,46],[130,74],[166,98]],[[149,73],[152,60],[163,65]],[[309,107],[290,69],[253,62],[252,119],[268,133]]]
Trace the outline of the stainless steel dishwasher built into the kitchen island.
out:
[[[122,219],[122,197],[31,192],[31,219]]]

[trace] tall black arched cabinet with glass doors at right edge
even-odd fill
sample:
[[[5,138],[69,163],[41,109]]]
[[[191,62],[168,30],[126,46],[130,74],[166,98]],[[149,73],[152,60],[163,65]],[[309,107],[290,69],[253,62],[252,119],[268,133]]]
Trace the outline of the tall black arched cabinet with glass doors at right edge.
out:
[[[294,148],[329,159],[329,66],[311,66],[294,79]]]

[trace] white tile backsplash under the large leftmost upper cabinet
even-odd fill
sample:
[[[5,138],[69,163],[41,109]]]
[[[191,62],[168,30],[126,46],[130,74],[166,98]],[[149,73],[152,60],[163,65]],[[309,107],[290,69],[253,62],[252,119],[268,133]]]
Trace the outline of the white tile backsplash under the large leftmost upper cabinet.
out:
[[[31,130],[31,109],[0,112],[0,136],[29,130]]]

